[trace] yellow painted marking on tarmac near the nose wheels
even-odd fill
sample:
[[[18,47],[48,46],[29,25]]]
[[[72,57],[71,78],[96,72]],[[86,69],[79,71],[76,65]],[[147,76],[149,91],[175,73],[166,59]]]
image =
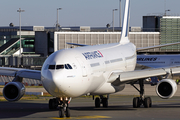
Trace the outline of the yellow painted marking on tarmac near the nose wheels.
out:
[[[111,118],[111,117],[94,115],[94,116],[78,116],[78,117],[64,117],[64,118],[53,117],[52,119],[64,120],[64,119],[100,119],[100,118]]]

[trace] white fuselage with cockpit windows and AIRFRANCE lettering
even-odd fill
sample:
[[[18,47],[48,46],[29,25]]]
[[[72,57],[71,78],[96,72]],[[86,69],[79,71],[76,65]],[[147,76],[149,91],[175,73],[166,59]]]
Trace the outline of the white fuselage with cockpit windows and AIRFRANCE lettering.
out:
[[[110,74],[133,71],[135,65],[136,47],[132,43],[78,47],[50,55],[42,67],[41,79],[55,97],[110,94],[124,89],[123,84],[107,83]]]

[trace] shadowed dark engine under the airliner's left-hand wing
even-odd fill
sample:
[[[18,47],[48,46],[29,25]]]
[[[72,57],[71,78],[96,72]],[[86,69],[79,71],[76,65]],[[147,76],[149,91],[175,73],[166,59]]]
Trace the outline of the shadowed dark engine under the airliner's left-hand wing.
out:
[[[21,82],[10,82],[3,89],[3,96],[8,101],[18,101],[25,94],[25,87]]]

